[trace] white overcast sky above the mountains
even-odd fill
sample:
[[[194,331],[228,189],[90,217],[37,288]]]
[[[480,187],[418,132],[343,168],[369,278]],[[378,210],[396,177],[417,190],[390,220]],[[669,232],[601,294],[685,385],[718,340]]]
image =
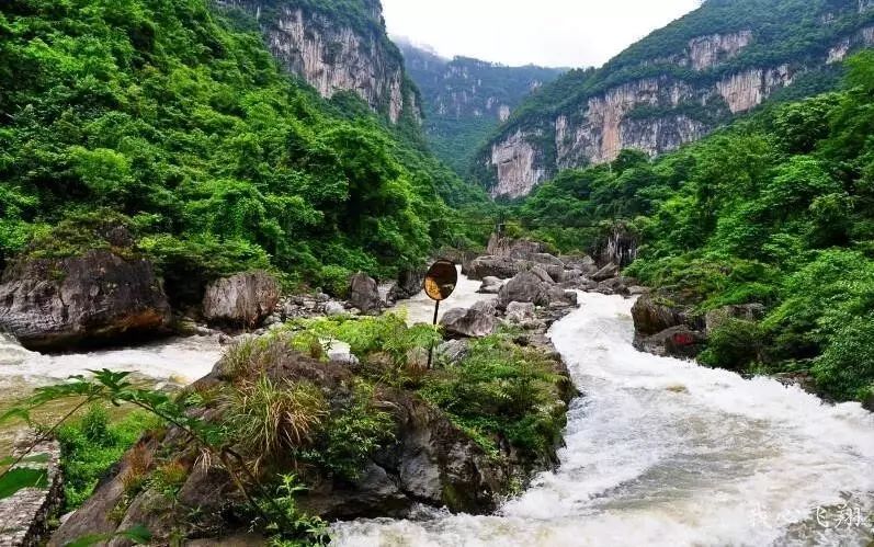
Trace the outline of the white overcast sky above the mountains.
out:
[[[388,32],[440,55],[601,66],[701,0],[383,0]]]

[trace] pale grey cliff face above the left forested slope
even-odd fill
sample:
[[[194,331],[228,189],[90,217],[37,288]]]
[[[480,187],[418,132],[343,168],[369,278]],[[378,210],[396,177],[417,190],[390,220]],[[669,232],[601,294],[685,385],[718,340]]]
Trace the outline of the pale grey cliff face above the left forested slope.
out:
[[[378,0],[338,19],[327,4],[300,0],[220,0],[256,16],[273,55],[326,99],[340,91],[361,96],[391,123],[421,112],[404,59],[388,39]],[[325,10],[325,11],[322,11]]]

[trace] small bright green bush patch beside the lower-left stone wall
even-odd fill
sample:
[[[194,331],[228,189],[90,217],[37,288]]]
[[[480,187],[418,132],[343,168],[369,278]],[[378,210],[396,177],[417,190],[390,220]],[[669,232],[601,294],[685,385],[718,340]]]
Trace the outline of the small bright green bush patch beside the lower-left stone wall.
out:
[[[93,493],[98,481],[144,431],[160,425],[160,420],[144,412],[132,412],[111,422],[106,409],[94,403],[84,415],[59,428],[56,436],[61,449],[64,512],[77,509]]]

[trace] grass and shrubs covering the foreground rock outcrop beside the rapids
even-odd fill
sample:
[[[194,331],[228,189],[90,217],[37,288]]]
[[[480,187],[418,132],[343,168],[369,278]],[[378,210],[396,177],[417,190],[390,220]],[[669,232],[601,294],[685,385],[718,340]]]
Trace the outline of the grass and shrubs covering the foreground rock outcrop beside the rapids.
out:
[[[429,415],[419,413],[429,403],[434,415],[442,410],[517,479],[554,457],[569,379],[555,356],[515,345],[513,335],[472,342],[459,362],[428,369],[428,349],[442,341],[431,326],[407,327],[391,314],[298,320],[241,340],[215,375],[181,394],[137,388],[128,373],[97,371],[37,388],[0,422],[30,422],[45,404],[75,401],[33,445],[52,434],[60,440],[67,510],[80,505],[121,460],[116,480],[123,493],[110,511],[117,523],[139,511],[139,502],[159,500],[162,524],[151,532],[170,544],[238,525],[272,536],[274,545],[322,544],[326,524],[300,509],[300,493],[326,481],[354,485],[377,451],[390,449],[399,425],[409,426],[407,418],[398,423],[407,417],[404,409],[410,417]],[[339,341],[351,346],[356,363],[327,362],[326,349]],[[105,410],[110,402],[137,410],[113,422]],[[194,506],[181,495],[203,465],[218,470],[219,482],[207,482],[211,489],[234,489],[223,494],[227,506]],[[0,474],[0,486],[18,488],[31,479],[36,477]],[[193,490],[204,480],[197,478]],[[517,486],[504,488],[509,493]]]

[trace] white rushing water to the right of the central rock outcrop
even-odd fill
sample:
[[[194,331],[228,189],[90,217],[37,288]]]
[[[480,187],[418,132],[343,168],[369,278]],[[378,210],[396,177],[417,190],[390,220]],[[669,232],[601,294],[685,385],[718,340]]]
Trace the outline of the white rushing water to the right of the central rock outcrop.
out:
[[[586,395],[561,465],[495,516],[333,528],[347,546],[866,546],[874,419],[632,346],[631,300],[581,294],[550,335]]]

